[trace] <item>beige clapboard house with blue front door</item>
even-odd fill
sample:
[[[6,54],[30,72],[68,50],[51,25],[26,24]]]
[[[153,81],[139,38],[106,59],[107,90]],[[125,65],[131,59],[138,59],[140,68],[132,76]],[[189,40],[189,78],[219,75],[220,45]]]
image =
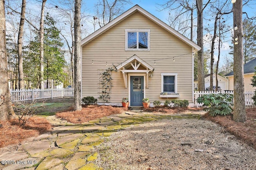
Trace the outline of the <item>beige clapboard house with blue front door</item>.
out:
[[[150,106],[177,99],[194,106],[194,52],[201,48],[140,6],[83,39],[81,49],[82,98],[117,106],[124,97],[130,106],[142,106],[142,98]]]

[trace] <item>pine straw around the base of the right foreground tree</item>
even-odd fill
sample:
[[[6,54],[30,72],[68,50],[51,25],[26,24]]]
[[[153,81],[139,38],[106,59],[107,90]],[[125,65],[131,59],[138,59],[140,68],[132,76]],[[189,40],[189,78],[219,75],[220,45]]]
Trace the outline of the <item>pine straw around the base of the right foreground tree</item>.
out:
[[[212,117],[206,113],[204,117],[226,127],[230,133],[253,145],[256,149],[256,108],[246,109],[247,121],[244,123],[233,121],[232,115]]]

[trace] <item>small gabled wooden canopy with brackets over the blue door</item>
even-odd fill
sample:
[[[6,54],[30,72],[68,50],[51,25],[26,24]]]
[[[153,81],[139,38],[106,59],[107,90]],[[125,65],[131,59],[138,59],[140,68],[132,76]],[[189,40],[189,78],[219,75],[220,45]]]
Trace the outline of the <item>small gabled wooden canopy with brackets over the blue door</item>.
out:
[[[124,85],[127,88],[127,74],[128,73],[145,73],[146,74],[146,88],[148,88],[148,78],[149,72],[154,71],[154,67],[148,64],[146,61],[142,60],[137,55],[133,55],[126,61],[122,62],[118,66],[116,66],[118,70],[120,70],[123,74]]]

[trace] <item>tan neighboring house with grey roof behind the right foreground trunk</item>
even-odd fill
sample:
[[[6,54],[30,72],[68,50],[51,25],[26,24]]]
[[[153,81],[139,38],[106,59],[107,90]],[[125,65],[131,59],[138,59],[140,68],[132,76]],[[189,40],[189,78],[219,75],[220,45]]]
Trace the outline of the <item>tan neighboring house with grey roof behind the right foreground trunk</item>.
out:
[[[252,76],[255,75],[256,59],[244,64],[244,92],[252,92],[256,87],[252,87]],[[234,72],[225,75],[228,78],[228,90],[234,90]]]

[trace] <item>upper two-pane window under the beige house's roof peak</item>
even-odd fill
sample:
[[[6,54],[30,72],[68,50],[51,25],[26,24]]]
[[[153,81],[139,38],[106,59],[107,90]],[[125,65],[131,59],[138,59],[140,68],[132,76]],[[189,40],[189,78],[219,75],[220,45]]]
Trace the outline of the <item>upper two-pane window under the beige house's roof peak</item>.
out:
[[[126,51],[149,51],[150,29],[125,29]]]

